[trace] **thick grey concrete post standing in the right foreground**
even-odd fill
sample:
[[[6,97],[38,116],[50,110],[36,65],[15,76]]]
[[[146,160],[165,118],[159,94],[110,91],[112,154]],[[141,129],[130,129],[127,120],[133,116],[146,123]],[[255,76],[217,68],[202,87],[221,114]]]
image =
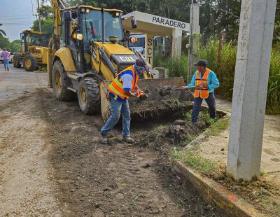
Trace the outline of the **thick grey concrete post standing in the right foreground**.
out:
[[[227,174],[260,174],[262,134],[276,0],[242,0]]]

